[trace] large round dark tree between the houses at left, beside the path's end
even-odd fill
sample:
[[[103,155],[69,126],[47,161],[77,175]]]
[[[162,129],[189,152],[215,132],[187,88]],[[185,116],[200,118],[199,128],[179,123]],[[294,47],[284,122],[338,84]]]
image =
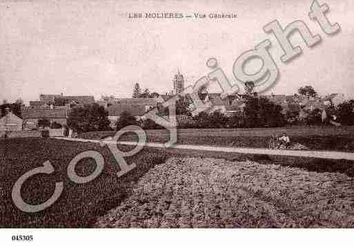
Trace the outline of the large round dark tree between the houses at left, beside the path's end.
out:
[[[110,129],[108,111],[97,103],[72,108],[67,122],[78,133]]]

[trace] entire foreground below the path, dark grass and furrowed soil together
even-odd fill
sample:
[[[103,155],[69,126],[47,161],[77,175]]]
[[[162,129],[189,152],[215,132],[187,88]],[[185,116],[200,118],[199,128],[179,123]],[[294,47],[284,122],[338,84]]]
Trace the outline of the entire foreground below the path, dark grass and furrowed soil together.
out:
[[[91,182],[75,184],[68,178],[68,164],[88,150],[104,156],[104,171]],[[44,211],[24,213],[11,199],[14,182],[46,160],[55,172],[28,179],[23,200],[45,202],[55,182],[63,182],[63,193]],[[126,160],[137,168],[117,178],[117,162],[99,144],[0,140],[0,226],[353,226],[353,162],[151,148]],[[85,176],[94,169],[92,160],[83,159],[75,171]]]

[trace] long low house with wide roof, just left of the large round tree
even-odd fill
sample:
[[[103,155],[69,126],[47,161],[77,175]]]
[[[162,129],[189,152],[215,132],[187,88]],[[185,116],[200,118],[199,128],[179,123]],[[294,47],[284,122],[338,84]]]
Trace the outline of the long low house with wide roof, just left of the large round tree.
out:
[[[59,107],[50,105],[50,107],[21,107],[23,117],[23,125],[29,129],[38,127],[39,119],[48,119],[50,123],[57,122],[61,125],[66,125],[68,116],[68,107]]]

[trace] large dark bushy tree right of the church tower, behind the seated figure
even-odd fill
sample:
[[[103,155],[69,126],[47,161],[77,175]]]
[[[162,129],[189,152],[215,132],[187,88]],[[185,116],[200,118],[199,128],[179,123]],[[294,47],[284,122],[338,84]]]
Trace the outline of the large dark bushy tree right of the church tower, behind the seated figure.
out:
[[[246,97],[244,107],[246,127],[282,127],[286,124],[282,107],[264,97]]]

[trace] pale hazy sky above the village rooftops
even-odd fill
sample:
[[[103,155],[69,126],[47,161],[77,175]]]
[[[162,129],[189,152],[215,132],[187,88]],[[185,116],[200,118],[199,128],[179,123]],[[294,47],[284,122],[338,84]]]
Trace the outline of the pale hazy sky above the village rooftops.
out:
[[[280,78],[269,94],[295,94],[312,85],[319,94],[354,97],[354,1],[319,0],[341,31],[324,34],[308,18],[312,0],[0,1],[0,100],[38,100],[39,94],[130,97],[134,83],[152,92],[172,89],[177,69],[186,86],[210,73],[217,58],[230,82],[233,64],[265,39]],[[133,12],[234,13],[236,19],[129,19]],[[263,26],[304,21],[322,42],[282,63],[282,49]],[[257,72],[262,63],[250,62]],[[211,85],[210,92],[218,92]]]

